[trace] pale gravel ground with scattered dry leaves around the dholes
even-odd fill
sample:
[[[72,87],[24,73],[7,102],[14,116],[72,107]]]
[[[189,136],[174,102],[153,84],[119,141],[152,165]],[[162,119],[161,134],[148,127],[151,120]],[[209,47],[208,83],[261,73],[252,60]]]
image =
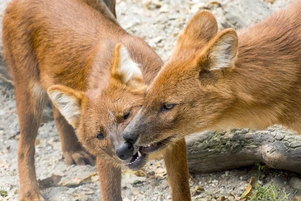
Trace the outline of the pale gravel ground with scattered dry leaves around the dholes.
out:
[[[209,8],[220,25],[224,17],[222,6],[229,1],[220,1],[217,4],[216,1],[209,0],[119,0],[116,11],[121,26],[129,33],[146,40],[166,61],[179,33],[195,13],[202,8]],[[0,18],[8,2],[0,0]],[[266,1],[266,4],[278,9],[288,2],[291,1],[275,0]],[[219,29],[223,27],[220,26]],[[14,88],[5,83],[0,83],[0,117],[0,200],[18,200],[19,123]],[[52,118],[45,119],[39,129],[35,160],[39,179],[50,179],[52,175],[55,175],[52,178],[61,178],[60,182],[42,189],[47,200],[101,200],[96,167],[64,164],[61,144]],[[231,193],[240,196],[252,176],[256,180],[259,178],[259,185],[268,186],[271,182],[279,185],[291,198],[301,195],[298,191],[301,190],[301,179],[298,175],[272,169],[258,174],[255,167],[245,167],[192,175],[190,185],[193,199],[223,200],[222,196],[225,196],[227,200],[234,200]],[[84,178],[87,181],[79,184]],[[8,196],[5,196],[6,193]],[[135,174],[125,170],[122,197],[123,200],[171,200],[163,160],[150,161],[142,171]]]

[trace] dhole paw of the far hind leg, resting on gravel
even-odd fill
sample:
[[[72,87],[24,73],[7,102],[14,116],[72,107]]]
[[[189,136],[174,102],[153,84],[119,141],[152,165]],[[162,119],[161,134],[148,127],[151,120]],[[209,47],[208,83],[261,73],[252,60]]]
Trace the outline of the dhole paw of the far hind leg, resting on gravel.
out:
[[[67,165],[95,165],[94,157],[83,150],[65,152],[64,158]]]

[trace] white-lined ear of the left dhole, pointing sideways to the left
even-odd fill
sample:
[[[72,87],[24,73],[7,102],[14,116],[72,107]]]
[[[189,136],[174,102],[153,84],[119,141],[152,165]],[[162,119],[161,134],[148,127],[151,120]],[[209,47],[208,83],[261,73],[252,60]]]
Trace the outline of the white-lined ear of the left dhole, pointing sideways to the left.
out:
[[[76,129],[79,125],[81,105],[85,94],[62,85],[50,86],[47,93],[67,122]]]

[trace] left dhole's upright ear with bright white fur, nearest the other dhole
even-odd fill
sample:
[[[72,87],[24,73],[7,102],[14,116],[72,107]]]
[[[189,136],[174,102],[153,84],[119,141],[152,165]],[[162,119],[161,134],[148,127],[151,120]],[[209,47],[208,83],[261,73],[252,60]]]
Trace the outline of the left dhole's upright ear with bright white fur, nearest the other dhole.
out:
[[[116,44],[114,48],[111,76],[133,88],[144,85],[139,65],[130,58],[127,48],[121,43]]]

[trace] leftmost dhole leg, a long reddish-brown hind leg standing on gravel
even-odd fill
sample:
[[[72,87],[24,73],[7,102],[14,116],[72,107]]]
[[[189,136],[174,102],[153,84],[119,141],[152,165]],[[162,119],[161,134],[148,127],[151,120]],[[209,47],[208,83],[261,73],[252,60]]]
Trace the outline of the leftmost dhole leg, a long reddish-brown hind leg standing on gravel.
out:
[[[45,92],[38,85],[26,83],[16,85],[17,109],[20,122],[18,165],[21,201],[44,200],[36,177],[35,140],[45,105],[45,97]]]

